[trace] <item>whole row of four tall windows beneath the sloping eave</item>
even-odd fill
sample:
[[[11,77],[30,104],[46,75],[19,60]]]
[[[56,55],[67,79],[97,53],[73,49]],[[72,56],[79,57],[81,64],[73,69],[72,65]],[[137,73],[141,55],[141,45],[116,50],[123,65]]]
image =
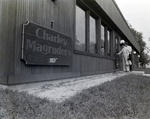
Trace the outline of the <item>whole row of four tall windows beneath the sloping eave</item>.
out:
[[[86,3],[77,1],[75,52],[111,57],[112,42],[111,27]]]

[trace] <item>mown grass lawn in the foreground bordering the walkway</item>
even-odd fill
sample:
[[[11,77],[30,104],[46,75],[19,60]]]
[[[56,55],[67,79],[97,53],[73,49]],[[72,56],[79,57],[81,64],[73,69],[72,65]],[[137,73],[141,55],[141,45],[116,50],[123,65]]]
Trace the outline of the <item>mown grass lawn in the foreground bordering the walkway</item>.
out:
[[[149,119],[150,78],[128,75],[55,103],[0,89],[0,119]]]

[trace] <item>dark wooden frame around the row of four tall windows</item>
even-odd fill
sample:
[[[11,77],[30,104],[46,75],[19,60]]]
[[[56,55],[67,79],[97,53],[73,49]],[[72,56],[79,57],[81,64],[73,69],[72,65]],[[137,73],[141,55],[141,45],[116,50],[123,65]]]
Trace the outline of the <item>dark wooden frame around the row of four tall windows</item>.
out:
[[[77,49],[75,49],[74,47],[74,53],[76,54],[81,54],[81,55],[88,55],[88,56],[93,56],[93,57],[102,57],[102,58],[107,58],[107,59],[113,59],[112,57],[112,45],[113,45],[113,30],[111,29],[111,27],[105,23],[102,18],[97,15],[97,13],[95,13],[88,5],[86,5],[84,2],[81,1],[77,1],[76,2],[76,6],[80,7],[82,10],[84,10],[86,12],[86,38],[85,38],[85,42],[86,42],[86,50],[85,51],[79,51]],[[75,10],[76,11],[76,10]],[[96,20],[96,53],[91,53],[90,52],[90,16],[93,17]],[[107,41],[107,28],[111,31],[111,35],[110,35],[110,56],[108,56],[108,51],[106,52],[106,55],[102,56],[101,52],[100,52],[100,47],[101,47],[101,25],[105,26],[105,40]],[[76,25],[75,25],[75,29],[76,29]],[[76,31],[76,30],[75,30]],[[75,32],[76,35],[76,32]],[[106,44],[107,45],[107,44]]]

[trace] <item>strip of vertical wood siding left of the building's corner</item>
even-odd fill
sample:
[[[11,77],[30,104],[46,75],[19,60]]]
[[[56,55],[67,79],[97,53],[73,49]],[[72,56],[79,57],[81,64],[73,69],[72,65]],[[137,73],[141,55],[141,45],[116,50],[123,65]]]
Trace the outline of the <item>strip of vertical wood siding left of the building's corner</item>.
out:
[[[0,0],[0,75],[13,74],[16,1]]]

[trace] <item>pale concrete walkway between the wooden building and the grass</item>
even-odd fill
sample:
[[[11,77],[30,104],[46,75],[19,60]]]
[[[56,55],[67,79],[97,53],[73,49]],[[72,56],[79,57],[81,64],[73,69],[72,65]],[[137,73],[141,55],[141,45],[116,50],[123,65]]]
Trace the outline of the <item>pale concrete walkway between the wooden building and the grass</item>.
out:
[[[129,74],[143,75],[143,72],[116,72],[9,87],[1,85],[0,87],[18,90],[19,92],[26,91],[27,93],[40,98],[46,97],[49,100],[61,102],[84,89],[100,85],[106,81],[111,81],[115,78]]]

